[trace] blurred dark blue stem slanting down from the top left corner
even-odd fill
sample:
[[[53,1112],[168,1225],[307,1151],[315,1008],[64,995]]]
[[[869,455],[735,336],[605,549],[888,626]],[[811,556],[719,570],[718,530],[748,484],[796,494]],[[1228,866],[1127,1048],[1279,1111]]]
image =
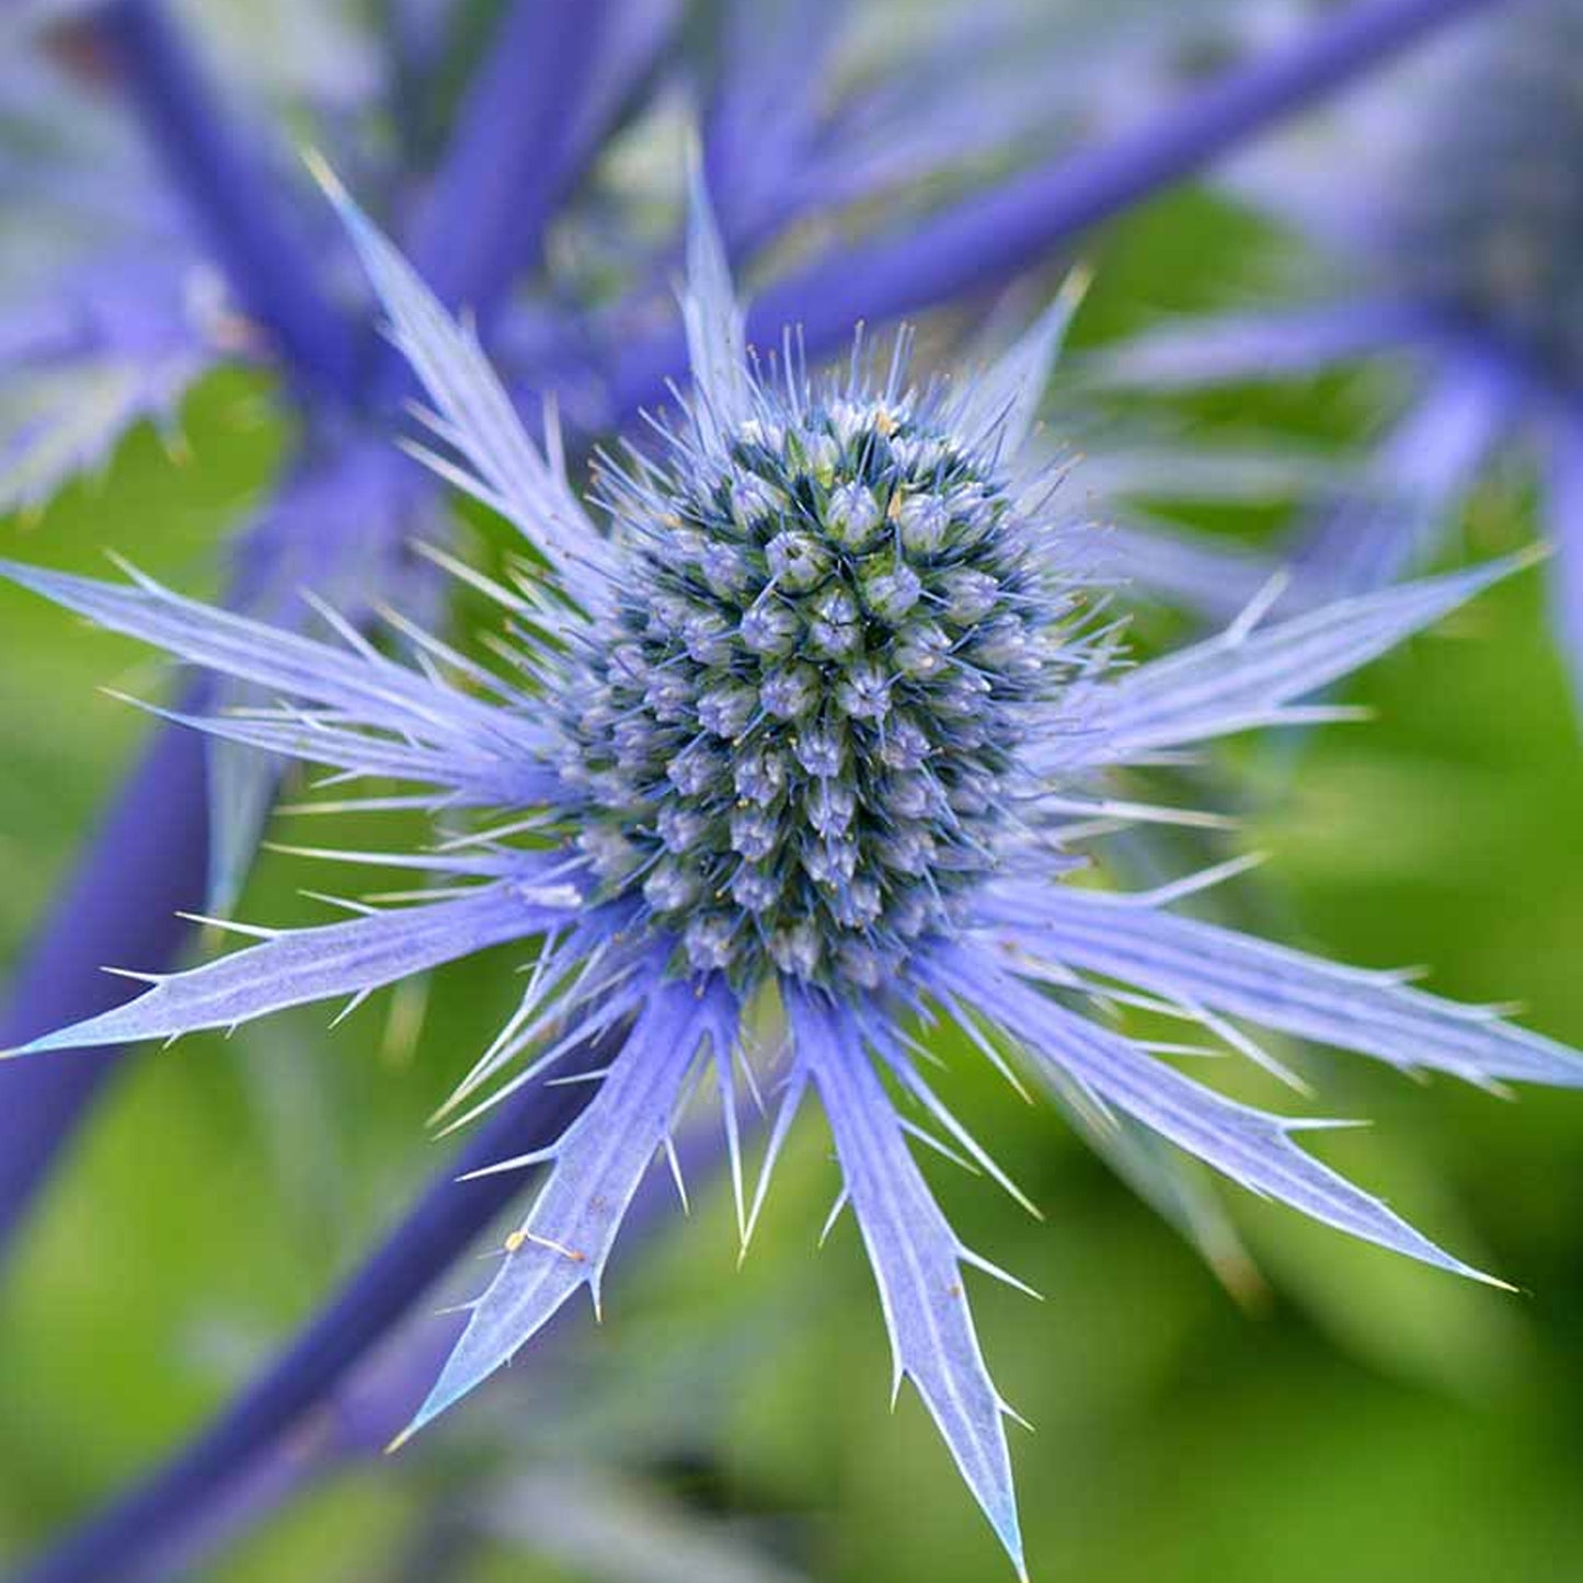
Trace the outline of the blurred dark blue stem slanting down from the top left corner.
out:
[[[112,0],[97,17],[123,85],[173,184],[214,249],[242,307],[274,337],[304,383],[353,391],[355,337],[320,294],[310,252],[275,212],[249,158],[158,0]]]

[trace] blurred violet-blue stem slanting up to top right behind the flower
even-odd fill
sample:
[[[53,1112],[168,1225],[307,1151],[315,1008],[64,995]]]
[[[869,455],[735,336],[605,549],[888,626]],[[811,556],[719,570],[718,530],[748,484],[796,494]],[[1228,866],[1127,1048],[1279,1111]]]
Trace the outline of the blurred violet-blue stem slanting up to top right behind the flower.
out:
[[[777,345],[782,328],[798,325],[807,351],[818,355],[839,345],[863,320],[891,320],[1000,285],[1097,222],[1205,169],[1436,28],[1501,3],[1510,0],[1376,0],[1352,6],[1184,97],[1133,133],[1016,176],[905,233],[826,253],[758,298],[749,334]],[[621,358],[613,378],[613,421],[619,424],[640,407],[662,402],[665,382],[684,361],[679,331]]]

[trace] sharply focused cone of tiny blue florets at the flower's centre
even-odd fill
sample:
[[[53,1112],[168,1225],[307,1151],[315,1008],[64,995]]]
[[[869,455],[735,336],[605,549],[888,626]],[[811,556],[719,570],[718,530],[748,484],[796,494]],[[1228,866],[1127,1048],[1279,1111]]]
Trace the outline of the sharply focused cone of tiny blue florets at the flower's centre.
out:
[[[874,986],[994,861],[1045,602],[993,462],[913,396],[766,410],[625,478],[564,771],[684,970]]]

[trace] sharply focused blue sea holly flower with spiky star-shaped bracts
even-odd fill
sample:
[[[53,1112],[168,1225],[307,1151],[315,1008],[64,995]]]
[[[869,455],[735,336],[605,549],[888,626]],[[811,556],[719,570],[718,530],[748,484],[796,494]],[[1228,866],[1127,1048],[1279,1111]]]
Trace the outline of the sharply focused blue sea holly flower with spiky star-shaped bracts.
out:
[[[951,1232],[907,1135],[923,1130],[1015,1187],[926,1084],[915,1042],[958,1023],[1010,1073],[1026,1061],[1105,1126],[1141,1126],[1243,1186],[1428,1263],[1477,1276],[1293,1141],[1325,1126],[1222,1099],[1160,1051],[1083,1015],[1141,994],[1244,1053],[1227,1018],[1488,1083],[1583,1083],[1583,1061],[1493,1013],[1178,917],[1165,891],[1070,883],[1076,825],[1141,818],[1108,799],[1118,765],[1258,723],[1434,621],[1496,565],[1225,636],[1124,674],[1081,575],[1094,529],[1056,507],[1019,450],[1072,306],[956,391],[912,389],[901,359],[858,355],[814,380],[760,374],[742,344],[701,203],[685,318],[695,391],[647,453],[606,467],[602,532],[540,450],[472,337],[344,204],[391,331],[454,453],[442,470],[537,551],[511,586],[456,570],[505,606],[489,670],[396,616],[416,665],[317,643],[138,579],[8,575],[100,624],[241,678],[279,709],[192,723],[328,765],[415,782],[400,806],[503,810],[427,852],[340,853],[443,875],[416,905],[374,909],[161,975],[127,1007],[28,1045],[120,1043],[230,1027],[329,996],[353,1000],[508,940],[538,942],[521,1005],[453,1095],[473,1114],[621,1038],[548,1164],[532,1211],[472,1306],[413,1428],[600,1282],[627,1205],[706,1067],[723,1100],[742,1239],[803,1099],[817,1092],[910,1377],[1021,1567],[1004,1417],[964,1266],[1004,1274]],[[546,581],[543,567],[551,578]],[[374,798],[388,807],[388,796]],[[1073,826],[1067,829],[1067,826]],[[1070,837],[1070,839],[1069,839]],[[1100,988],[1100,985],[1110,988]],[[1129,989],[1114,988],[1118,985]],[[1054,993],[1051,993],[1054,991]],[[782,1100],[757,1189],[742,1184],[736,1084],[757,1083],[746,1013],[784,1029]],[[483,1097],[492,1089],[489,1097]],[[839,1205],[837,1205],[839,1208]],[[1007,1277],[1010,1279],[1010,1277]],[[1486,1279],[1486,1277],[1482,1277]]]

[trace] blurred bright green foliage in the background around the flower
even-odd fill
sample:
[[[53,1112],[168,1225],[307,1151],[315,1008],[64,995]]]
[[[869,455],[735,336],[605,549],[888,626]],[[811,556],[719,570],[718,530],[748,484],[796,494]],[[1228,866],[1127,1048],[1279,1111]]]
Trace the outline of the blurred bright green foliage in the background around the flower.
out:
[[[1194,195],[1157,203],[1094,256],[1083,339],[1241,299],[1274,266],[1266,237]],[[1358,377],[1183,416],[1342,443],[1384,402]],[[282,435],[264,386],[236,377],[199,391],[184,434],[180,461],[136,437],[101,481],[0,524],[0,551],[93,570],[117,549],[212,589],[215,545]],[[1526,511],[1520,480],[1491,489],[1469,545],[1521,543]],[[1379,711],[1374,723],[1287,755],[1233,744],[1225,757],[1252,787],[1238,842],[1271,856],[1230,905],[1328,955],[1433,964],[1433,988],[1517,999],[1536,1027],[1583,1043],[1583,755],[1542,597],[1531,573],[1376,665],[1347,693]],[[1151,616],[1143,630],[1181,628]],[[147,730],[97,689],[155,692],[160,673],[11,592],[0,633],[3,959]],[[266,856],[244,913],[323,917],[296,898],[315,883],[312,864]],[[499,953],[462,964],[426,1007],[386,997],[334,1032],[307,1012],[127,1065],[0,1285],[0,1556],[32,1550],[199,1425],[391,1224],[443,1159],[424,1118],[503,1015],[511,966]],[[951,1067],[947,1095],[1048,1216],[1034,1224],[991,1186],[928,1165],[966,1239],[1046,1293],[977,1293],[996,1377],[1037,1426],[1013,1447],[1037,1578],[1583,1575],[1583,1095],[1512,1103],[1309,1057],[1317,1107],[1376,1121],[1319,1152],[1523,1290],[1460,1285],[1228,1194],[1265,1276],[1233,1300],[1048,1110],[959,1051]],[[459,1493],[598,1461],[621,1490],[644,1482],[643,1501],[761,1540],[806,1577],[1007,1578],[917,1401],[888,1409],[850,1222],[814,1252],[836,1187],[826,1154],[817,1124],[798,1132],[742,1273],[719,1184],[693,1184],[690,1224],[674,1216],[643,1247],[625,1243],[573,1388],[546,1390],[529,1358],[410,1453],[326,1483],[203,1575],[622,1575],[554,1559],[554,1510],[518,1524],[535,1543],[502,1518],[423,1548]]]

